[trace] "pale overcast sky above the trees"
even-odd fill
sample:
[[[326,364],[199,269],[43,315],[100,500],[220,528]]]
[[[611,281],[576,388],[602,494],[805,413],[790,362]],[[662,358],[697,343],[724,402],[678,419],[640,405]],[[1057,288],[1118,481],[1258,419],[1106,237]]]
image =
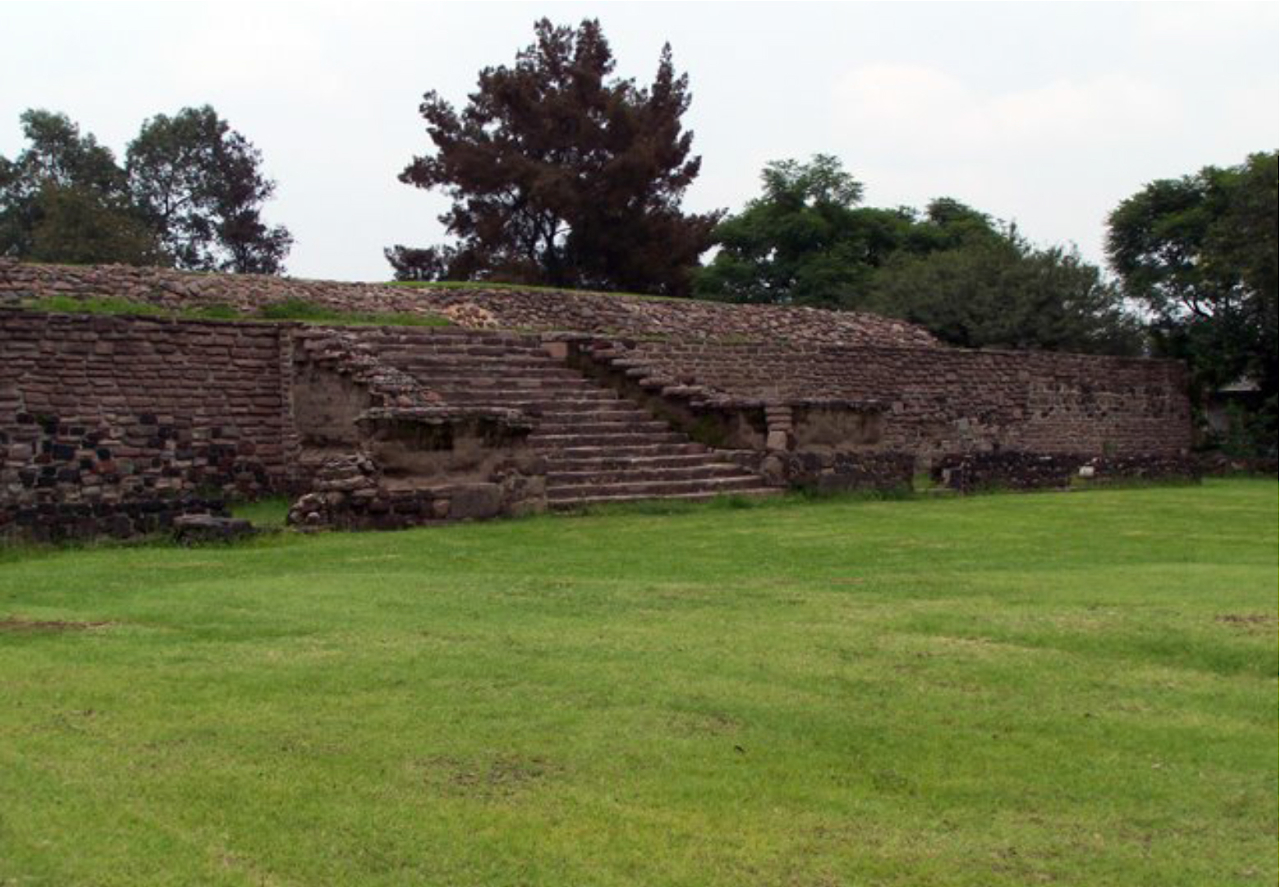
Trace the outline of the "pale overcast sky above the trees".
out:
[[[737,211],[769,160],[835,154],[872,206],[950,196],[1102,260],[1144,183],[1280,146],[1280,4],[3,4],[0,154],[27,108],[123,155],[150,115],[211,104],[278,183],[294,276],[389,276],[383,247],[444,233],[397,174],[429,150],[422,92],[461,105],[532,23],[599,18],[618,73],[687,72],[703,173]]]

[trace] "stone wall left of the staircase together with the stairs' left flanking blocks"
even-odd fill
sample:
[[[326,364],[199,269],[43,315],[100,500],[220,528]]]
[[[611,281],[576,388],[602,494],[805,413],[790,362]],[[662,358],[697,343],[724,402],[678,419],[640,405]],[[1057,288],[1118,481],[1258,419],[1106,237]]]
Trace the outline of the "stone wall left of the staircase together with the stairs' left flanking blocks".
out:
[[[445,402],[379,360],[370,342],[387,334],[0,308],[0,536],[123,538],[316,489],[325,508],[308,513],[338,526],[545,507],[532,420]],[[426,349],[495,338],[397,335]],[[357,463],[376,466],[358,494],[340,489]]]

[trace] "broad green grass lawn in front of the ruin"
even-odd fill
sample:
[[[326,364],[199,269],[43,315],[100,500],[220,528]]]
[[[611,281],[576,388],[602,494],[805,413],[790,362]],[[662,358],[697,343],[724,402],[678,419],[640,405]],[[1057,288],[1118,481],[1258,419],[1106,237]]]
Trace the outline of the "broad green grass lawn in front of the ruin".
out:
[[[0,550],[0,884],[1270,887],[1276,493]]]

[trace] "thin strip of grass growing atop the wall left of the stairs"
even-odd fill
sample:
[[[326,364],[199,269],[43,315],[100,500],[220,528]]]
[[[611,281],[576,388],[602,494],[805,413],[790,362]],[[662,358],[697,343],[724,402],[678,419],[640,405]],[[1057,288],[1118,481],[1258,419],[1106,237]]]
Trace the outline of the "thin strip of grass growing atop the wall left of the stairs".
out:
[[[22,303],[28,311],[52,314],[132,315],[148,317],[174,317],[180,320],[237,320],[237,321],[300,321],[333,326],[448,326],[447,317],[435,315],[335,311],[301,298],[288,298],[264,306],[255,312],[237,311],[229,305],[192,306],[172,311],[159,305],[119,297],[76,298],[73,296],[44,296]]]

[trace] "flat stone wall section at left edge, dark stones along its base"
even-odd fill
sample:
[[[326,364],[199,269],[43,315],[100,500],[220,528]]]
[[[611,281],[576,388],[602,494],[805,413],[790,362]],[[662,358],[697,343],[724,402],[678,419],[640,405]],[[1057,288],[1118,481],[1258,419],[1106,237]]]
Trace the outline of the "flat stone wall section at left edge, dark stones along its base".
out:
[[[283,361],[279,326],[0,310],[0,529],[284,489]]]

